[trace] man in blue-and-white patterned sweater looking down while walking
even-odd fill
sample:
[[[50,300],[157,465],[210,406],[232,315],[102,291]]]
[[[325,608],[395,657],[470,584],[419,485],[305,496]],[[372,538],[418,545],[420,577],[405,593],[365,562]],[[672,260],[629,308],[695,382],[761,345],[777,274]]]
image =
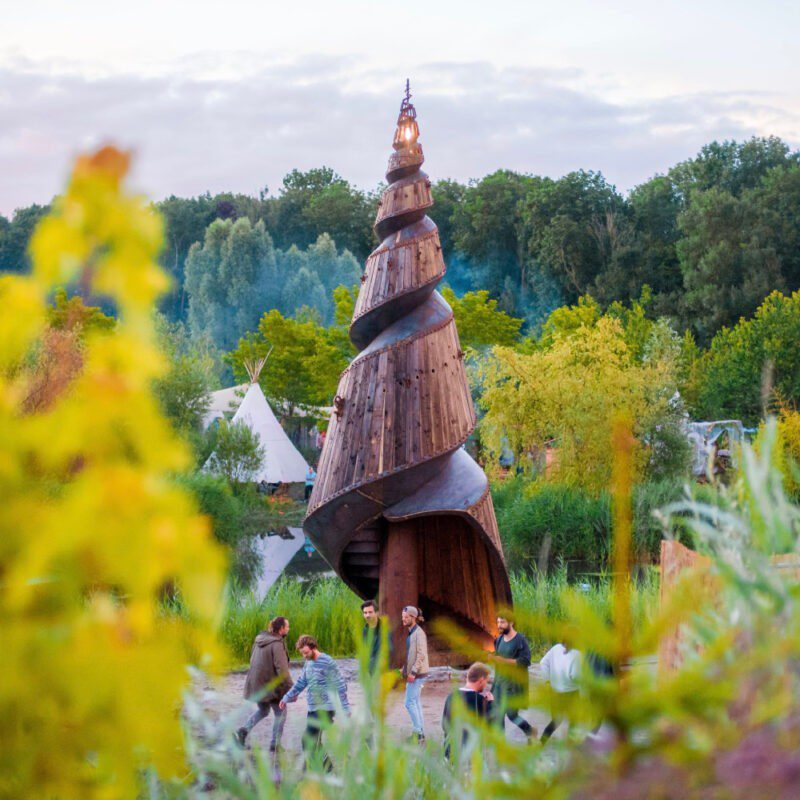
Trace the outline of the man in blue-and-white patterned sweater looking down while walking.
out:
[[[308,689],[308,716],[303,733],[303,752],[306,760],[316,757],[322,748],[322,733],[327,725],[336,717],[336,696],[342,709],[349,713],[350,702],[347,699],[347,684],[339,672],[336,662],[327,654],[321,653],[317,640],[313,636],[301,636],[297,640],[297,649],[305,663],[300,677],[294,686],[284,695],[280,702],[281,710],[287,703],[294,703]],[[322,765],[327,772],[333,769],[328,754],[323,751]]]

